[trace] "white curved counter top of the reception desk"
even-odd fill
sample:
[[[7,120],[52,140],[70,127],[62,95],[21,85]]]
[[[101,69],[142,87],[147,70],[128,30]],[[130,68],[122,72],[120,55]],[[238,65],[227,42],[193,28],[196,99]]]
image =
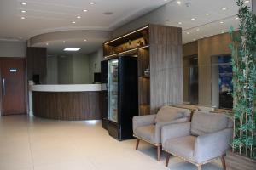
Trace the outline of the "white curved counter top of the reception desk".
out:
[[[30,85],[34,92],[97,92],[102,91],[102,84],[56,84]]]

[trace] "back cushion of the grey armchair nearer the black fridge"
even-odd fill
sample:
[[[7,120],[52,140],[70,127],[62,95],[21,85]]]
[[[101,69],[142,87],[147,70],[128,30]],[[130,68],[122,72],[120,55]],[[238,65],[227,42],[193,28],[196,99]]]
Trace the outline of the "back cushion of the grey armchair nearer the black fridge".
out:
[[[173,120],[186,116],[190,116],[190,111],[188,109],[165,105],[161,107],[160,110],[157,112],[154,122],[171,122]]]

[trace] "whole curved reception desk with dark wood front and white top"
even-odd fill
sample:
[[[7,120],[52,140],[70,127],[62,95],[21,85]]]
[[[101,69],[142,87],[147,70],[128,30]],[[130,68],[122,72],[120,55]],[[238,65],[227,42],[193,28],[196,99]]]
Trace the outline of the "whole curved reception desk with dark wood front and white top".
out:
[[[79,121],[102,119],[101,84],[31,85],[30,114]]]

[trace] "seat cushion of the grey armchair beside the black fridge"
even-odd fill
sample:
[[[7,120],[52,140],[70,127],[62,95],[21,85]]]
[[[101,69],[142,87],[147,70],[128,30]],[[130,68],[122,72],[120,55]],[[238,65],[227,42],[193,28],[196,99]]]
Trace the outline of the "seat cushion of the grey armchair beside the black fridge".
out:
[[[137,127],[134,129],[134,134],[137,135],[137,137],[148,140],[149,142],[153,142],[154,144],[158,144],[158,142],[155,139],[154,136],[155,126],[154,125],[148,125],[143,127]]]

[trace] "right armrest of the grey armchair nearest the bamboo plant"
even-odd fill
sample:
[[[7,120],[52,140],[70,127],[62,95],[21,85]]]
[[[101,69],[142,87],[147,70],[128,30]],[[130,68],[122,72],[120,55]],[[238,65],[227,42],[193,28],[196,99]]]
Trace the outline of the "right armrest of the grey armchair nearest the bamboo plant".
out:
[[[232,128],[199,136],[195,141],[195,160],[199,163],[223,156],[230,148]]]

